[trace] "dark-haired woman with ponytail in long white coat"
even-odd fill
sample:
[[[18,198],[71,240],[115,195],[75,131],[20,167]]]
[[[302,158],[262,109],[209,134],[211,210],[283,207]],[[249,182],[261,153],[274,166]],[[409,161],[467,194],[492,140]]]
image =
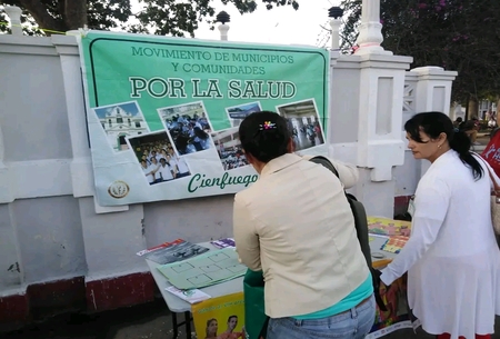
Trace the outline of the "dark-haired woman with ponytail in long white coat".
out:
[[[488,164],[443,113],[416,114],[404,130],[413,157],[431,166],[417,187],[410,240],[380,278],[389,286],[408,271],[410,308],[439,339],[491,338],[500,313],[500,251]]]

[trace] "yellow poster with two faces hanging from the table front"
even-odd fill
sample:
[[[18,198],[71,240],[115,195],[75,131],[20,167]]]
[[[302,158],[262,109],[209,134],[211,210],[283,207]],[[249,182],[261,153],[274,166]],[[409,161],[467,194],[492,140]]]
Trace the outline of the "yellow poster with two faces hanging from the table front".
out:
[[[198,339],[246,338],[243,292],[201,301],[191,312]]]

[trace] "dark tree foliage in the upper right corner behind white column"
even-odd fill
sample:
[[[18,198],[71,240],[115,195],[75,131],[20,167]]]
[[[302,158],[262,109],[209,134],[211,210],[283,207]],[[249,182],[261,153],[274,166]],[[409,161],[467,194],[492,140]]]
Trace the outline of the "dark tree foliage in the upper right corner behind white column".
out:
[[[349,14],[342,50],[356,44],[361,0],[343,0]],[[382,46],[413,57],[412,68],[456,70],[453,99],[480,100],[500,93],[499,0],[381,0]]]

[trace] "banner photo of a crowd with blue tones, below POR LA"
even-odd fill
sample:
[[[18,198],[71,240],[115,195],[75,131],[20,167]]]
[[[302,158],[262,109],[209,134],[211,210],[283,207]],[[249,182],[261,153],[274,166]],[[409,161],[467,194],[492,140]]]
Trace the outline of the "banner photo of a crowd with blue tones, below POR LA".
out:
[[[160,108],[158,114],[180,156],[213,147],[210,139],[213,129],[202,101]]]

